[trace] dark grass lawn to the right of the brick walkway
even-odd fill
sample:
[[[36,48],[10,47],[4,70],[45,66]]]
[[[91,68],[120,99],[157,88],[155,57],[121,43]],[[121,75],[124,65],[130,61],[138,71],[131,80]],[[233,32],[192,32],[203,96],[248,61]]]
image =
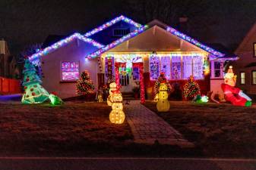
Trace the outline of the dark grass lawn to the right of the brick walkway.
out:
[[[168,113],[158,113],[156,103],[145,106],[195,144],[198,156],[256,157],[256,106],[192,104],[171,101]]]

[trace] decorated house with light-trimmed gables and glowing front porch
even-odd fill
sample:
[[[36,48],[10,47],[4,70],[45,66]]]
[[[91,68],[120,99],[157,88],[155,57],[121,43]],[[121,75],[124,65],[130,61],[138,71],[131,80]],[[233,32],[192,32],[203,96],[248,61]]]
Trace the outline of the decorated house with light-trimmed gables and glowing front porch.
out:
[[[121,91],[141,87],[141,100],[152,97],[160,73],[184,85],[193,75],[201,92],[221,93],[223,66],[234,55],[217,51],[153,20],[141,25],[120,16],[86,32],[74,33],[29,57],[42,70],[43,87],[60,97],[76,95],[76,80],[86,70],[96,87],[115,81]]]

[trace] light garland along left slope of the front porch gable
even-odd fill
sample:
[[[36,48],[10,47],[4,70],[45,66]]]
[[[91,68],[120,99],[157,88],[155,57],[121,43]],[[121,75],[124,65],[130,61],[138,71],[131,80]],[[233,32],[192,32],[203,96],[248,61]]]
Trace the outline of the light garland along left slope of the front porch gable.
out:
[[[103,52],[108,51],[111,48],[114,48],[116,45],[121,44],[122,42],[125,42],[128,39],[131,39],[134,36],[137,36],[137,34],[144,32],[144,30],[147,29],[147,26],[141,26],[139,29],[134,30],[133,32],[129,33],[126,36],[123,36],[121,39],[116,40],[115,42],[112,42],[109,45],[106,45],[105,47],[101,48],[98,51],[93,52],[92,54],[87,55],[88,58],[97,57],[100,54],[103,54]]]

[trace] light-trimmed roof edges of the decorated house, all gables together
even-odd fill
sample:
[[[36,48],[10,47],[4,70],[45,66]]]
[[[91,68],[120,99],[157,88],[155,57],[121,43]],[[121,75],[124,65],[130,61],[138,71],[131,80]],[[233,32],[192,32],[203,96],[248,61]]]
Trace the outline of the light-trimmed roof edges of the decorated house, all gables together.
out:
[[[130,32],[128,35],[122,36],[122,38],[115,40],[114,42],[110,43],[109,45],[102,45],[99,42],[96,42],[93,39],[90,39],[90,36],[96,34],[97,32],[101,32],[104,29],[108,28],[109,26],[114,25],[115,23],[118,23],[119,21],[124,21],[126,23],[131,24],[132,26],[135,26],[137,29],[135,29],[133,32]],[[203,49],[204,51],[209,52],[210,54],[213,54],[215,57],[225,57],[226,54],[223,54],[220,51],[216,51],[213,48],[210,48],[207,45],[202,44],[201,42],[198,42],[196,39],[191,38],[190,36],[185,35],[182,32],[179,32],[178,30],[172,28],[171,26],[167,26],[165,23],[160,22],[159,20],[153,20],[147,25],[142,26],[140,23],[136,23],[133,20],[129,19],[128,17],[124,17],[123,15],[119,17],[115,17],[113,20],[110,20],[107,23],[104,23],[103,25],[97,27],[96,29],[91,30],[90,32],[85,33],[84,35],[81,35],[79,33],[74,33],[71,36],[68,36],[66,39],[62,39],[58,42],[55,42],[54,44],[40,50],[36,54],[33,54],[29,57],[30,60],[36,60],[38,57],[42,57],[43,55],[49,54],[52,51],[55,51],[55,49],[62,47],[63,45],[68,44],[69,42],[73,41],[74,39],[81,39],[84,42],[90,43],[93,46],[99,48],[99,50],[94,51],[93,53],[85,56],[88,58],[97,57],[100,54],[103,54],[104,52],[108,51],[111,48],[116,47],[117,45],[120,45],[122,42],[128,41],[129,39],[133,38],[134,36],[137,36],[138,34],[141,34],[148,28],[152,26],[160,26],[163,29],[166,29],[167,32],[171,33],[172,35],[175,35],[179,37],[180,39],[185,40],[186,42],[189,42],[198,48]]]

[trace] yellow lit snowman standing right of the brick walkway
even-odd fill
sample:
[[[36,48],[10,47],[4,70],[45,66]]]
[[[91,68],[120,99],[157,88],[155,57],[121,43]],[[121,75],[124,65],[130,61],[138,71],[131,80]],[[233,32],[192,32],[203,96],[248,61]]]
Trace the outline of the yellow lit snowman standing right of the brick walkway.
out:
[[[159,88],[159,100],[156,104],[156,108],[159,112],[167,112],[169,111],[169,101],[168,101],[168,87],[165,83],[160,84]]]

